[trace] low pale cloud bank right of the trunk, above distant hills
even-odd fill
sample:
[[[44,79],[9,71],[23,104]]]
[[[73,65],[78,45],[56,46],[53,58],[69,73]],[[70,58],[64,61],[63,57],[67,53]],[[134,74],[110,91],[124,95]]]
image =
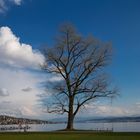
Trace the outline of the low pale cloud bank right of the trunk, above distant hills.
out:
[[[125,106],[114,106],[109,104],[101,104],[100,102],[95,102],[85,105],[86,110],[81,110],[79,116],[134,116],[140,115],[139,104],[130,104],[128,107]]]

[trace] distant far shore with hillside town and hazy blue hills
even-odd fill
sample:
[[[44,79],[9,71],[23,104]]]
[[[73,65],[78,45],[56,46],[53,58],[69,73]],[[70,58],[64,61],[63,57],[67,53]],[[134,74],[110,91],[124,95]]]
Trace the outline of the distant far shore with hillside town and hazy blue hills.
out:
[[[12,116],[0,115],[0,125],[22,125],[22,124],[56,124],[66,123],[66,118],[56,118],[52,120],[39,120],[39,119],[28,119],[28,118],[16,118]],[[140,122],[140,117],[102,117],[102,118],[76,118],[75,122]]]

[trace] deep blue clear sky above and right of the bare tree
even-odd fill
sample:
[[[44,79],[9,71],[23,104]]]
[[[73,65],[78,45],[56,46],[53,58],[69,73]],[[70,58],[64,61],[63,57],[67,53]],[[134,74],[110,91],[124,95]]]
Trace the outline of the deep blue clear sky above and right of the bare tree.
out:
[[[6,8],[1,8],[2,2]],[[18,3],[16,0],[0,0],[0,27],[9,27],[20,42],[30,44],[33,50],[44,44],[52,45],[59,26],[64,22],[71,22],[85,36],[93,34],[103,41],[111,41],[113,61],[107,72],[121,94],[113,102],[114,110],[118,115],[124,115],[128,108],[135,109],[127,112],[128,115],[137,115],[140,114],[139,7],[139,0],[19,0]],[[0,84],[3,88],[2,82]],[[28,86],[23,88],[29,89]],[[97,110],[110,109],[108,104],[99,103],[99,106],[101,108]]]

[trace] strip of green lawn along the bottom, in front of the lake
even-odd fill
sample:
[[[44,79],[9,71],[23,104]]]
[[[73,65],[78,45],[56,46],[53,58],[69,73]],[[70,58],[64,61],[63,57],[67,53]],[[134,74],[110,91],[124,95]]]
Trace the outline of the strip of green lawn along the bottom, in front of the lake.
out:
[[[140,140],[140,133],[0,133],[0,140]]]

